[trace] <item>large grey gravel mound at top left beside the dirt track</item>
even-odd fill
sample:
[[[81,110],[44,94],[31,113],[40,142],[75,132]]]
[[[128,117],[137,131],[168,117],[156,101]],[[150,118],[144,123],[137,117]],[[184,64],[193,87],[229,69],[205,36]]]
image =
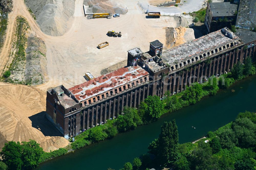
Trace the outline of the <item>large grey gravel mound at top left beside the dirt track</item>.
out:
[[[51,36],[63,35],[67,21],[74,14],[75,0],[26,0],[25,4],[36,16],[41,30]]]

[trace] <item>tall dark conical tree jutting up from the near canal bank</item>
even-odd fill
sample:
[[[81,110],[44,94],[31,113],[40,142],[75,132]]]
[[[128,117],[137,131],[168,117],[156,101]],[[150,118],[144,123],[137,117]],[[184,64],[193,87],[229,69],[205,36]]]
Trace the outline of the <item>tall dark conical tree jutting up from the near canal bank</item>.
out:
[[[178,141],[178,128],[174,119],[172,122],[164,122],[159,138],[155,140],[156,144],[152,144],[153,141],[148,149],[156,154],[160,165],[166,166],[178,159]]]

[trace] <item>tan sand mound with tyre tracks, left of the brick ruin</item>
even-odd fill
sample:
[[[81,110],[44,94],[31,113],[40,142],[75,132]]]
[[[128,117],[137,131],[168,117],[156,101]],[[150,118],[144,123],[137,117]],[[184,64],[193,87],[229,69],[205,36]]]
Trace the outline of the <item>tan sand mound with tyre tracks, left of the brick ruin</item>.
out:
[[[36,140],[45,151],[68,145],[45,118],[45,94],[33,87],[0,83],[0,148],[7,141]]]

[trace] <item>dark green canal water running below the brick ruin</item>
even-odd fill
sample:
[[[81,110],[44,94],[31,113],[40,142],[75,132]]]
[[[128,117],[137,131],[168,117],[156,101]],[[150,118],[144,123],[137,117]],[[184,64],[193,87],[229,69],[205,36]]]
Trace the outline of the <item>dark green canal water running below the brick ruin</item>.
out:
[[[146,153],[148,144],[158,137],[165,121],[176,119],[179,143],[192,142],[233,121],[239,112],[256,110],[256,76],[237,82],[216,96],[203,98],[195,105],[166,114],[159,120],[135,130],[121,133],[113,139],[101,141],[40,164],[38,170],[85,169],[116,170],[125,162]],[[231,93],[231,89],[235,92]],[[196,127],[196,129],[191,128]]]

